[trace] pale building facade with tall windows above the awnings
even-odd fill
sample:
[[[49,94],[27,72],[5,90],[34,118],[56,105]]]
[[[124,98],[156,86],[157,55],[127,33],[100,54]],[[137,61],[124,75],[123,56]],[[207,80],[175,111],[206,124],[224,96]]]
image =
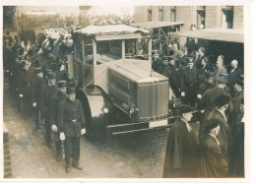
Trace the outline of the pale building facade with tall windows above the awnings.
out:
[[[182,22],[182,31],[224,28],[243,30],[243,6],[137,6],[134,22]]]

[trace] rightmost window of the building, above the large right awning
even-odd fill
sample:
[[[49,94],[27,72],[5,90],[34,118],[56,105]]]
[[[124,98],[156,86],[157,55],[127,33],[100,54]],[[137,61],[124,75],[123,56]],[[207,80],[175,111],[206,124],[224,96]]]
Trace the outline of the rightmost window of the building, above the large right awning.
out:
[[[223,6],[223,29],[232,29],[233,27],[233,7]]]

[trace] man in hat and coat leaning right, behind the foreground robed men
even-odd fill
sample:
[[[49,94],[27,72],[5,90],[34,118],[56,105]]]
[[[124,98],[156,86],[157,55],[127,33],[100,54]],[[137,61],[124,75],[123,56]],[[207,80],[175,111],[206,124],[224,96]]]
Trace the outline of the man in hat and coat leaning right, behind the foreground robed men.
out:
[[[227,94],[230,96],[229,93],[227,93],[224,89],[227,83],[226,76],[219,76],[217,78],[216,87],[206,91],[202,98],[199,100],[199,110],[201,110],[202,113],[204,113],[203,120],[201,122],[201,125],[208,119],[208,116],[211,111],[213,111],[216,108],[215,100],[220,94]],[[227,112],[230,113],[232,111],[232,102],[229,101]],[[201,137],[203,135],[203,126],[200,126],[200,132],[199,136]]]

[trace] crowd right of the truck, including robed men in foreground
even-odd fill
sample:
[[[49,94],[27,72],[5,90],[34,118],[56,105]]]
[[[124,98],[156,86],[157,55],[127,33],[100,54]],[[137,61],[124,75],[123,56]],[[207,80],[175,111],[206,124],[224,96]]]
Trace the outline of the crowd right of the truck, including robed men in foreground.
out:
[[[169,43],[153,55],[153,69],[169,79],[181,104],[167,140],[163,177],[244,177],[243,73],[224,56],[209,61],[205,48],[188,53]],[[195,111],[199,136],[191,128]]]

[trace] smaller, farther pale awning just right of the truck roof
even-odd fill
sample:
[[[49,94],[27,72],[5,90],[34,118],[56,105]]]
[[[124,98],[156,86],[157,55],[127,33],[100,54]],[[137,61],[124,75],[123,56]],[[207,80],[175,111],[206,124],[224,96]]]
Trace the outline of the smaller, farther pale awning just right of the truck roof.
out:
[[[151,30],[151,29],[170,27],[170,26],[178,26],[178,25],[184,25],[184,23],[181,23],[181,22],[159,22],[159,21],[154,21],[154,22],[136,23],[136,24],[133,24],[132,26],[139,27],[141,29]]]

